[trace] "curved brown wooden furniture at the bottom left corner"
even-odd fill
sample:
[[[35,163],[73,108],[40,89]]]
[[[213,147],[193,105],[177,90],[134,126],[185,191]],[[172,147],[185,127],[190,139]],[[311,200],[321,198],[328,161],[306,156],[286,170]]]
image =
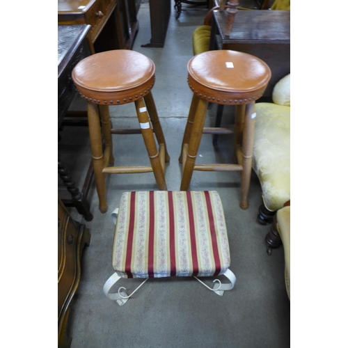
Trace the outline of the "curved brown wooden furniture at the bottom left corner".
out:
[[[90,244],[90,232],[74,221],[58,198],[58,348],[70,347],[67,334],[70,303],[79,287],[81,254]]]

